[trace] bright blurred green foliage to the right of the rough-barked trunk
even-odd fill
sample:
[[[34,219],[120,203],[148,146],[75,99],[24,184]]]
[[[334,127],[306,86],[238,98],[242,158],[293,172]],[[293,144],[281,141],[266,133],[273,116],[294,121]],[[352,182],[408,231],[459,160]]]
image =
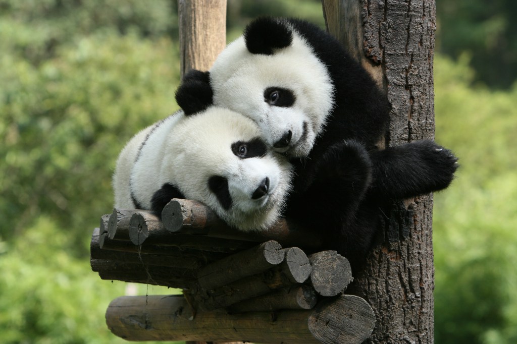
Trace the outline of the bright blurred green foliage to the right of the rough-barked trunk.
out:
[[[517,87],[471,87],[468,56],[435,57],[436,140],[460,157],[435,195],[435,341],[517,342]]]

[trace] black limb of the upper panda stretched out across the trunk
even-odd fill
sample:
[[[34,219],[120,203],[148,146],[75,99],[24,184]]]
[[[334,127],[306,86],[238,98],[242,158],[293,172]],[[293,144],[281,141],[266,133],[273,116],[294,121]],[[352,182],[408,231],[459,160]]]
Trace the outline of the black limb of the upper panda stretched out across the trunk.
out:
[[[446,189],[454,179],[458,158],[431,140],[410,142],[371,152],[372,192],[405,199]]]

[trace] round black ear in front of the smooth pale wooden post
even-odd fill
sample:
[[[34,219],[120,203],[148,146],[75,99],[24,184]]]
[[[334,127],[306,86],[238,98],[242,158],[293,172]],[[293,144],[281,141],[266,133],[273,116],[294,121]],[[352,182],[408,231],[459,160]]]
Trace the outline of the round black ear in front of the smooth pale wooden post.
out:
[[[193,69],[181,80],[181,85],[176,90],[176,103],[188,116],[206,110],[214,103],[212,96],[210,72]]]

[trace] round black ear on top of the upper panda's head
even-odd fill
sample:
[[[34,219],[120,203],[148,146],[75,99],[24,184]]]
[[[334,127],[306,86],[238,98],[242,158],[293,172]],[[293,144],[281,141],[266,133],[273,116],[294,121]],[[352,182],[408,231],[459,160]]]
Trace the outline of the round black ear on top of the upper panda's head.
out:
[[[250,53],[272,55],[273,49],[291,45],[293,34],[284,23],[274,18],[262,17],[246,26],[244,40]]]

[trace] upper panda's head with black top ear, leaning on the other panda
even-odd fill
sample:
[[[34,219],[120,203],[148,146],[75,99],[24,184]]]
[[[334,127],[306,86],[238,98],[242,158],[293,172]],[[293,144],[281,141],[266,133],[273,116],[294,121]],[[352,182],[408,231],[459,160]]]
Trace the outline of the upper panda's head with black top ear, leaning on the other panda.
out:
[[[282,19],[251,22],[218,56],[209,79],[215,105],[254,120],[268,145],[290,157],[308,155],[333,107],[326,66]]]

